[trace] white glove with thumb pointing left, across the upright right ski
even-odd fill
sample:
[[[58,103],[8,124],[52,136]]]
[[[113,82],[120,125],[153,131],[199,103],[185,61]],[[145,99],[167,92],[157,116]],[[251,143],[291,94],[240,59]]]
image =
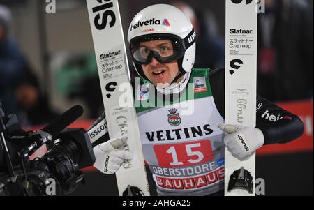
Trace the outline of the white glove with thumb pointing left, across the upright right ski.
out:
[[[224,138],[225,146],[240,160],[250,156],[264,144],[264,135],[258,128],[224,123],[219,124],[218,128],[227,133]]]

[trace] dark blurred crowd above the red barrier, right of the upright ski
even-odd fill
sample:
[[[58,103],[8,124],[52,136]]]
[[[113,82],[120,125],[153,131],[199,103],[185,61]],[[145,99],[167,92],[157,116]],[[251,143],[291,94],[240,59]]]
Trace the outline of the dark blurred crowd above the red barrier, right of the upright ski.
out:
[[[257,91],[273,101],[313,98],[313,5],[265,0],[258,15]]]

